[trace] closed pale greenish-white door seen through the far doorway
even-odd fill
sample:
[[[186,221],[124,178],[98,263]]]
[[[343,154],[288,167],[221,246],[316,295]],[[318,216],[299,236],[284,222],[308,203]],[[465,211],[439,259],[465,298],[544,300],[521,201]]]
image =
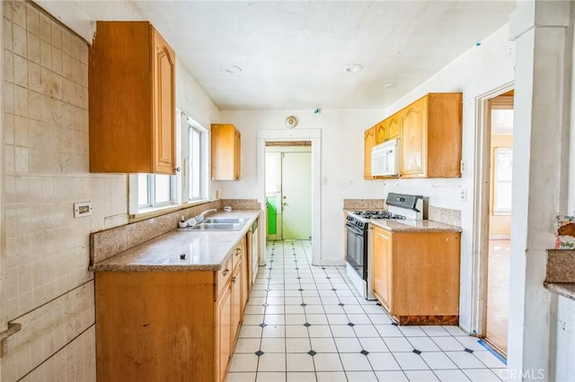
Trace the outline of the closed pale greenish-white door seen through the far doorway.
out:
[[[311,239],[311,152],[282,153],[281,211],[282,239]]]

